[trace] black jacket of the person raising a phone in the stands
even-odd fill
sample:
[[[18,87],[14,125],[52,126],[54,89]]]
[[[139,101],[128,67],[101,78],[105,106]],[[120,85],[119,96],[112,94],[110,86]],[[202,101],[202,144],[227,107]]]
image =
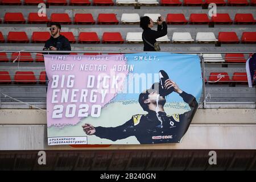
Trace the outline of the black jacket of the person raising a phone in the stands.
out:
[[[158,39],[166,34],[167,34],[166,22],[163,22],[162,25],[158,25],[158,31],[151,30],[151,28],[144,29],[143,33],[142,33],[142,40],[144,43],[143,51],[155,51],[154,47],[152,47],[148,43],[146,43],[144,39],[146,39],[147,42],[150,42],[154,46],[156,39]],[[144,36],[144,38],[143,38],[143,36]]]

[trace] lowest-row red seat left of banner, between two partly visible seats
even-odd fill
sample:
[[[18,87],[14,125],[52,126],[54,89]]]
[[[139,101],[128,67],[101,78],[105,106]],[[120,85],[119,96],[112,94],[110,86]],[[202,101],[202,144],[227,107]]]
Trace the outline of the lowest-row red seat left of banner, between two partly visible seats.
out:
[[[35,84],[36,78],[34,72],[16,72],[14,81],[16,83]]]

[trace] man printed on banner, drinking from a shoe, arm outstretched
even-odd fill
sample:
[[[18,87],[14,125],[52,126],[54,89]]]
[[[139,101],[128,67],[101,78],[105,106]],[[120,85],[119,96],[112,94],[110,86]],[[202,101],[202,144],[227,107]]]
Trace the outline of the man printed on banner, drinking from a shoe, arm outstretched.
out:
[[[167,75],[164,71],[160,71],[159,75],[160,82],[154,83],[150,89],[139,95],[139,104],[148,114],[133,115],[129,121],[117,127],[94,127],[85,123],[82,126],[85,134],[113,141],[135,136],[141,144],[180,143],[195,115],[198,104],[194,96],[181,90],[168,76],[168,79],[164,79],[164,75]],[[183,98],[191,110],[184,114],[167,115],[165,113],[165,97],[173,91]]]

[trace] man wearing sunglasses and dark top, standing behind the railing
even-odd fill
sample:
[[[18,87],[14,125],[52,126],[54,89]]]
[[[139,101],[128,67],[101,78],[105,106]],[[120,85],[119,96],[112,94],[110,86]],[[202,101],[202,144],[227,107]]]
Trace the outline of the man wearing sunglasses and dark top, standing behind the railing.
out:
[[[59,23],[51,23],[51,28],[49,28],[51,31],[51,38],[49,38],[44,45],[44,51],[71,51],[70,43],[65,36],[60,35],[60,29],[61,26]]]

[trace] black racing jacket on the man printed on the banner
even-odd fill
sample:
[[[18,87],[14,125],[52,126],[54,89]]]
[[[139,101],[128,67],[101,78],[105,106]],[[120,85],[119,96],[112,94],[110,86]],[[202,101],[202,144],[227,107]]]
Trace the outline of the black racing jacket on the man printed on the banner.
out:
[[[148,114],[136,114],[129,121],[117,127],[95,127],[96,135],[110,140],[124,139],[135,136],[141,144],[152,143],[179,143],[188,130],[193,115],[198,107],[196,98],[188,93],[181,93],[184,102],[188,103],[191,110],[184,114],[166,115],[150,110]]]

